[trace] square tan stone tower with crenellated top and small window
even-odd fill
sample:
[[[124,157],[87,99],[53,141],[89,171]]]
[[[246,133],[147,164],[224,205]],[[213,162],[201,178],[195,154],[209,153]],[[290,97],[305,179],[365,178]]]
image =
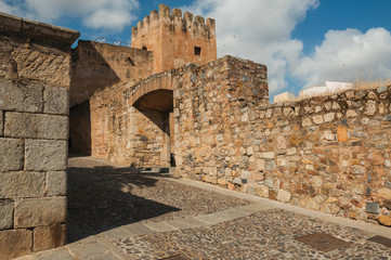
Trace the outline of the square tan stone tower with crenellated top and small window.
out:
[[[132,28],[132,48],[153,51],[154,73],[217,58],[214,20],[160,4]]]

